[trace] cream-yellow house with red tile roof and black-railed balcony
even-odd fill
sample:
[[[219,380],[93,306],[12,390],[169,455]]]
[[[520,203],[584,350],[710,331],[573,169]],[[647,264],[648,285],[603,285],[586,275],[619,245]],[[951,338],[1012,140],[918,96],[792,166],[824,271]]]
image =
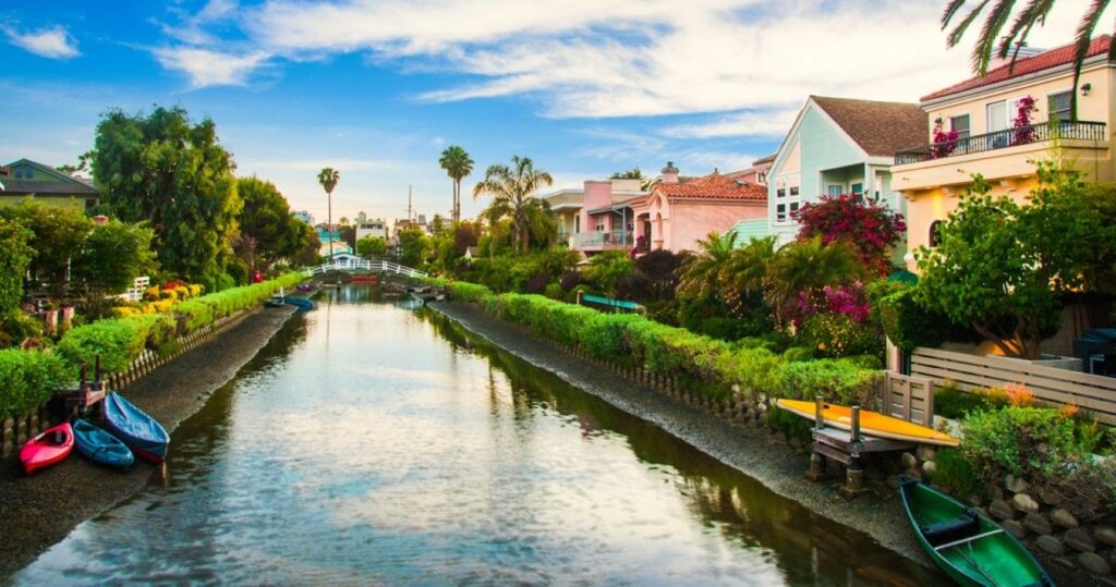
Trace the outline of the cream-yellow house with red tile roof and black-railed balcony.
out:
[[[958,195],[974,174],[993,185],[993,194],[1020,202],[1036,185],[1037,161],[1060,158],[1087,181],[1116,177],[1110,44],[1107,36],[1094,39],[1076,87],[1074,48],[1066,46],[1020,57],[1013,67],[1004,64],[922,98],[931,128],[927,144],[896,153],[892,167],[892,187],[907,200],[908,251],[933,247],[935,223],[958,206]],[[1071,122],[1075,93],[1078,116]],[[1033,109],[1029,124],[1021,124],[1020,109],[1028,102]],[[911,252],[905,260],[915,270]]]

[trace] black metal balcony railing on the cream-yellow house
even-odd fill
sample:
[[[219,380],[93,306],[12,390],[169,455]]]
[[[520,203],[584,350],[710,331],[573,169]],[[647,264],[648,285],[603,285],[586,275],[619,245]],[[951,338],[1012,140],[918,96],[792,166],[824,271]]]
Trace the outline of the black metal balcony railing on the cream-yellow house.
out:
[[[983,135],[969,136],[956,141],[933,143],[918,148],[899,151],[895,154],[896,165],[922,163],[935,158],[955,157],[971,153],[984,153],[1017,145],[1041,143],[1052,139],[1108,141],[1105,123],[1055,121],[1050,123],[1018,126]]]

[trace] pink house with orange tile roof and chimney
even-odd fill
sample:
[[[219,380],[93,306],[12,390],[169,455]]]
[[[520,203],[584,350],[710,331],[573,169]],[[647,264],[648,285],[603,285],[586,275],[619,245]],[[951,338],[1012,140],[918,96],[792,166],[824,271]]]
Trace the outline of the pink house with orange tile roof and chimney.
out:
[[[696,250],[710,232],[723,233],[741,220],[767,219],[767,198],[766,187],[716,172],[679,182],[679,170],[667,163],[651,193],[627,204],[644,251],[680,252]]]

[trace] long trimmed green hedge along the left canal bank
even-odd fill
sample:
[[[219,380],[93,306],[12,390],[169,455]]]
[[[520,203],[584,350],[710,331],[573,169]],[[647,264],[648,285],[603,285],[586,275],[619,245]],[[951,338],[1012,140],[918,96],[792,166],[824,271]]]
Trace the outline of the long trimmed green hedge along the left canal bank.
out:
[[[191,298],[166,314],[106,318],[66,333],[55,352],[0,350],[0,417],[26,413],[48,401],[56,389],[71,385],[77,367],[92,368],[100,356],[106,373],[126,371],[144,349],[161,350],[186,335],[238,310],[267,299],[280,287],[304,279],[301,273]]]

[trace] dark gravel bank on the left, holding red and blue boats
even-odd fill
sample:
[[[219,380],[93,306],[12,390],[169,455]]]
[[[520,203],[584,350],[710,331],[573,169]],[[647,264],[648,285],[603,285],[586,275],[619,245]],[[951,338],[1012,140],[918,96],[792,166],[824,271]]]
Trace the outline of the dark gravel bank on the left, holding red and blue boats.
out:
[[[125,394],[173,432],[295,311],[291,306],[254,311],[204,346],[136,379]],[[162,477],[146,462],[118,472],[75,456],[29,479],[20,473],[18,461],[9,459],[0,468],[0,578],[27,566],[81,521],[148,484],[162,483]]]

